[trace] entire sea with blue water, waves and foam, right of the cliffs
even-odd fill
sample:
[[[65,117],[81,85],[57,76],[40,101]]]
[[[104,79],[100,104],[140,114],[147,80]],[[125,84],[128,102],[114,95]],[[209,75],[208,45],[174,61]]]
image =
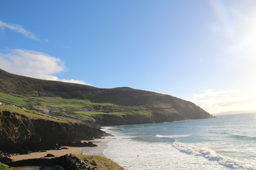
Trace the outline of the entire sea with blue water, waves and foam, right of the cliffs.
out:
[[[103,128],[125,169],[256,169],[256,113]]]

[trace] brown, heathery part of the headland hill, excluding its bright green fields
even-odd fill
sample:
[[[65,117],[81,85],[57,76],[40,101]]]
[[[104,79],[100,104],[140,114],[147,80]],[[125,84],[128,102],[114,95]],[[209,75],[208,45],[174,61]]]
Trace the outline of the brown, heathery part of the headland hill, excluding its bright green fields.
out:
[[[0,91],[5,94],[31,97],[75,98],[88,100],[95,104],[110,103],[111,105],[117,105],[111,114],[94,110],[96,111],[94,114],[88,115],[90,123],[97,123],[99,125],[161,123],[176,120],[212,118],[212,115],[203,111],[202,108],[194,103],[166,94],[129,87],[100,89],[82,84],[34,79],[11,74],[2,69],[0,69]],[[92,106],[90,107],[92,108]],[[87,114],[88,112],[84,113]],[[115,115],[115,113],[118,114]],[[110,121],[111,119],[113,121]],[[108,123],[105,123],[105,120]]]

